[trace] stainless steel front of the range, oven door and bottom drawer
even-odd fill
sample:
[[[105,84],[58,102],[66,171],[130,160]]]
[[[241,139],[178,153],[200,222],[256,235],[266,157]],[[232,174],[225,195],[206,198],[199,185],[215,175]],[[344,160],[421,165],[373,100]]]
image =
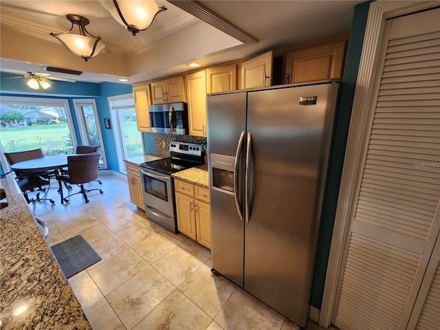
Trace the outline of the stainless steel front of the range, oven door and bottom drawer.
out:
[[[177,232],[174,186],[170,175],[140,168],[146,216],[166,229]]]

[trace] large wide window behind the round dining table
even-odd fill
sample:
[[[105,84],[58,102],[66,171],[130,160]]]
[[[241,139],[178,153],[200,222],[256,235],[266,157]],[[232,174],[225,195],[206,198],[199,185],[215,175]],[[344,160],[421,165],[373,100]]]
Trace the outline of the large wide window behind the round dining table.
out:
[[[4,152],[41,148],[45,156],[69,155],[77,145],[67,100],[2,96],[0,144]],[[1,165],[8,162],[1,153]]]

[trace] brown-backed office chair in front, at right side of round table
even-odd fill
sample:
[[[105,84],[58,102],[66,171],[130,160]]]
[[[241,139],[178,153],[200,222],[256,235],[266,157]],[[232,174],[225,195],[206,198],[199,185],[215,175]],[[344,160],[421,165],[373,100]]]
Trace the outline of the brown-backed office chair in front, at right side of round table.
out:
[[[101,189],[86,189],[84,184],[90,181],[96,180],[98,178],[98,164],[99,164],[100,153],[86,153],[84,155],[70,155],[67,156],[67,170],[69,174],[58,175],[58,184],[61,190],[61,203],[64,201],[69,201],[69,197],[77,194],[83,194],[86,203],[89,203],[87,198],[87,192],[92,190],[99,190],[101,194],[104,192]],[[76,184],[80,187],[80,191],[74,194],[63,197],[63,189],[61,182],[66,182],[67,184]]]

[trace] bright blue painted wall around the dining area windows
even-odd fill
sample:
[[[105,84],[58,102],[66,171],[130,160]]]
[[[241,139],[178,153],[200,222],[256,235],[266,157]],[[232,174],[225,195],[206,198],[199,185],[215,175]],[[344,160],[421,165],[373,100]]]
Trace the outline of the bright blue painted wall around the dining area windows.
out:
[[[98,117],[102,131],[102,143],[104,144],[107,157],[107,169],[119,171],[118,159],[116,156],[115,140],[113,137],[113,129],[104,128],[104,118],[110,118],[109,96],[118,96],[122,94],[130,94],[132,92],[131,85],[118,83],[67,83],[63,81],[55,81],[50,87],[50,94],[46,94],[47,90],[32,90],[26,85],[26,79],[12,78],[15,75],[1,73],[0,74],[0,102],[1,96],[19,96],[32,98],[56,98],[67,99],[69,101],[70,111],[74,122],[74,130],[78,144],[82,144],[78,129],[78,120],[76,120],[74,99],[94,99],[98,109]]]

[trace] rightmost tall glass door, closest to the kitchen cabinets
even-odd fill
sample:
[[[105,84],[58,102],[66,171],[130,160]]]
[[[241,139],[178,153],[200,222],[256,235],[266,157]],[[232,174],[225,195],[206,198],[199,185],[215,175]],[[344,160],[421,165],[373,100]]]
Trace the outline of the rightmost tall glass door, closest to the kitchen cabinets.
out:
[[[142,133],[137,131],[132,94],[112,96],[108,100],[118,165],[120,172],[125,173],[124,159],[144,154]]]

